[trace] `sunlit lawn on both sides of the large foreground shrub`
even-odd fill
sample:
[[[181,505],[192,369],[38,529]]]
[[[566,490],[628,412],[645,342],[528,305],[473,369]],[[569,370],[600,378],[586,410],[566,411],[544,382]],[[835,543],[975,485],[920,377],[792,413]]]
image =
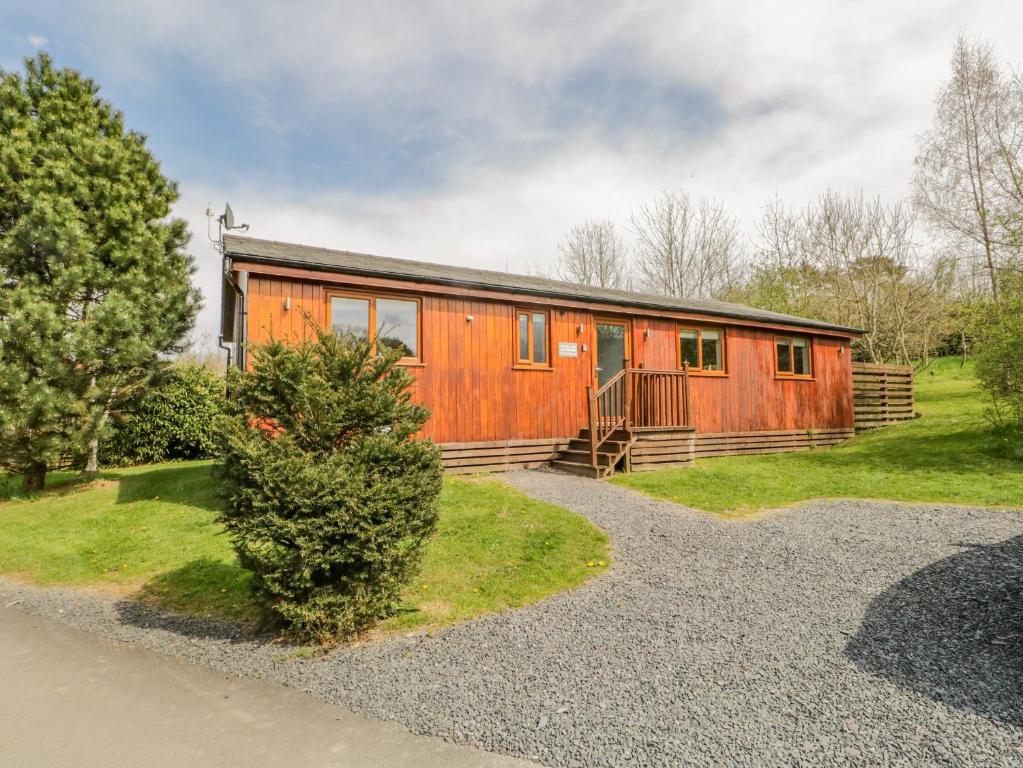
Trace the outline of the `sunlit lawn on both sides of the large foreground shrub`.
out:
[[[0,575],[179,613],[257,617],[249,576],[216,522],[208,462],[110,470],[89,484],[56,473],[52,482],[31,499],[18,497],[16,481],[0,485]],[[439,627],[534,602],[582,584],[609,559],[607,537],[585,518],[494,480],[446,478],[440,510],[421,574],[379,630]]]

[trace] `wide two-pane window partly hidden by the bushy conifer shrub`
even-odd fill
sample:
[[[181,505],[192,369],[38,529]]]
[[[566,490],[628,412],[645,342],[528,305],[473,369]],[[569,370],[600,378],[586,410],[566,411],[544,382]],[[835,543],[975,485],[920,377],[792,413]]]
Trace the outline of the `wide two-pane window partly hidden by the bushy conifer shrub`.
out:
[[[377,349],[401,350],[404,362],[420,360],[419,315],[417,299],[330,297],[330,326],[335,333],[375,342]]]

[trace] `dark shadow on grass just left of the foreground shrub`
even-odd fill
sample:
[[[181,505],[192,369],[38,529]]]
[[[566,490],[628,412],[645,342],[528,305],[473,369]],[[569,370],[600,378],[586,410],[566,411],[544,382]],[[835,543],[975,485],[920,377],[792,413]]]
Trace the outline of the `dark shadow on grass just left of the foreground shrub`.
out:
[[[250,642],[271,639],[252,601],[251,576],[236,562],[202,557],[160,574],[117,603],[125,624],[198,639]]]

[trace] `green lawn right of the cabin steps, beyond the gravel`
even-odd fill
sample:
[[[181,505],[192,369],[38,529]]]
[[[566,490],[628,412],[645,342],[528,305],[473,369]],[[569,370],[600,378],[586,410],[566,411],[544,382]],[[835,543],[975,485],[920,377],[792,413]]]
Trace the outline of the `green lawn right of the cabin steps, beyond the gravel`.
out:
[[[812,498],[875,498],[1023,507],[1023,462],[993,452],[973,368],[936,360],[917,377],[921,418],[801,453],[700,459],[613,482],[713,512]]]

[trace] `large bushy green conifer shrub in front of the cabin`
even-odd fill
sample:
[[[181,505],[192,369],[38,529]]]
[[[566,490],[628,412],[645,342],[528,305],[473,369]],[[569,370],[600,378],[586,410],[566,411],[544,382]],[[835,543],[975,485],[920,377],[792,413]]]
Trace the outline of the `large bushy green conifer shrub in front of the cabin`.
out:
[[[230,374],[223,522],[257,598],[300,638],[393,614],[436,526],[440,451],[415,439],[429,413],[400,354],[317,331]]]

